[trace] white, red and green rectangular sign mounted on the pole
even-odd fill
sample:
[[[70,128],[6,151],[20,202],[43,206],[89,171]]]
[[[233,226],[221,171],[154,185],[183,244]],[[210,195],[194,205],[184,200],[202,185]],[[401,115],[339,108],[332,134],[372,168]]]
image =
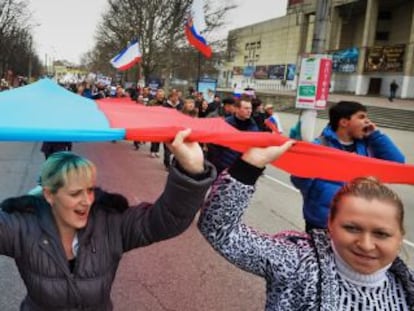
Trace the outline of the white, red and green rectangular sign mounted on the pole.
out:
[[[310,55],[302,59],[296,94],[296,108],[325,109],[332,73],[328,55]]]

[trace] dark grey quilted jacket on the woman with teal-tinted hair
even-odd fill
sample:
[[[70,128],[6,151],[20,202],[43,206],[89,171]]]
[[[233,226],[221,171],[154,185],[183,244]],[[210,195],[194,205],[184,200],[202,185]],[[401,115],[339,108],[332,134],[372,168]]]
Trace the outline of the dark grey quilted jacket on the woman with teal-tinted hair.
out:
[[[78,232],[73,273],[51,214],[41,197],[4,201],[0,254],[15,259],[27,288],[21,310],[112,310],[110,291],[124,252],[183,232],[193,221],[215,178],[195,180],[172,168],[154,203],[128,206],[125,197],[97,191],[87,226]]]

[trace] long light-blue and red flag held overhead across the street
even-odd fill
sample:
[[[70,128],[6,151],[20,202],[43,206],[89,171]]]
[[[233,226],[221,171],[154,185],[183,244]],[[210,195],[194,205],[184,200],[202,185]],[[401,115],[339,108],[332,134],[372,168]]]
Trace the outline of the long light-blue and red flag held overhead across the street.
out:
[[[127,97],[93,101],[49,79],[0,92],[0,142],[170,142],[177,131],[185,128],[192,129],[190,141],[214,143],[239,152],[252,146],[278,146],[289,139],[279,134],[242,132],[222,118],[192,118],[175,109],[137,105]],[[412,164],[364,157],[305,141],[297,141],[273,165],[305,178],[349,181],[357,176],[376,176],[383,182],[414,185]]]

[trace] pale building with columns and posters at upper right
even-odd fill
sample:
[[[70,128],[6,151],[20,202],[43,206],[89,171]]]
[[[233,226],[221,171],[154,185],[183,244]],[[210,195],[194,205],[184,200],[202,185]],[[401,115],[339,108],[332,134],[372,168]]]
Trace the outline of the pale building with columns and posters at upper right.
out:
[[[414,1],[330,0],[318,38],[333,61],[331,91],[414,98]],[[302,57],[314,50],[316,0],[290,0],[287,14],[228,35],[224,87],[296,89]]]

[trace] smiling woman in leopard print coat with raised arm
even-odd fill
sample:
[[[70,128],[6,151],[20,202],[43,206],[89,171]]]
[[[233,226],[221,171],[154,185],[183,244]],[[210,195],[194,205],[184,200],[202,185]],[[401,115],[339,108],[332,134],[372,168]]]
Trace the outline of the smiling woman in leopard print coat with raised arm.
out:
[[[266,310],[412,310],[414,272],[398,257],[400,198],[374,178],[344,185],[328,230],[263,234],[242,223],[265,166],[288,150],[251,148],[214,182],[199,218],[212,247],[266,281]]]

